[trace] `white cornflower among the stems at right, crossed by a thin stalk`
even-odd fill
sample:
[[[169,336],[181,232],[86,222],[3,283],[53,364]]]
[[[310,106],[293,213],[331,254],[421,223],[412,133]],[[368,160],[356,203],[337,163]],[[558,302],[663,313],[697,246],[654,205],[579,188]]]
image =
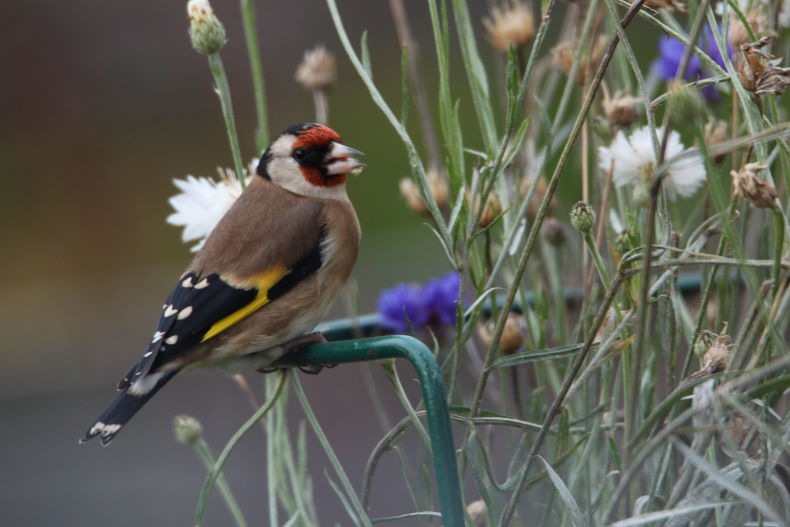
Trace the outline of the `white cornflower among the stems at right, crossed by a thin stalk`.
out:
[[[658,137],[662,137],[662,134],[663,130],[659,129]],[[667,139],[665,158],[672,159],[684,150],[683,143],[680,142],[680,134],[672,130]],[[646,181],[656,166],[649,127],[643,126],[635,130],[628,138],[621,130],[615,140],[611,141],[610,146],[600,147],[598,166],[604,171],[609,171],[612,164],[614,164],[612,181],[616,186],[638,183],[640,180]],[[706,175],[702,157],[698,154],[687,156],[675,161],[669,168],[664,176],[664,188],[672,201],[678,195],[689,198],[702,186]]]

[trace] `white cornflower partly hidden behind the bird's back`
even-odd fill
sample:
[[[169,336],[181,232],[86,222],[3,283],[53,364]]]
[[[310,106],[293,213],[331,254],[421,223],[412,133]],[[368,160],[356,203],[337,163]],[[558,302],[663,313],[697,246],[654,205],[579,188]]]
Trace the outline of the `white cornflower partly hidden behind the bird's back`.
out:
[[[250,171],[246,174],[247,182],[250,181],[250,174],[255,173],[257,166],[258,160],[250,163]],[[181,235],[184,243],[200,240],[190,249],[194,253],[203,247],[205,239],[214,230],[216,224],[242,194],[239,179],[230,168],[225,170],[217,168],[217,171],[220,172],[220,181],[204,177],[196,178],[194,175],[187,175],[186,179],[173,179],[181,194],[176,194],[167,200],[175,209],[175,213],[167,216],[167,223],[184,228]]]

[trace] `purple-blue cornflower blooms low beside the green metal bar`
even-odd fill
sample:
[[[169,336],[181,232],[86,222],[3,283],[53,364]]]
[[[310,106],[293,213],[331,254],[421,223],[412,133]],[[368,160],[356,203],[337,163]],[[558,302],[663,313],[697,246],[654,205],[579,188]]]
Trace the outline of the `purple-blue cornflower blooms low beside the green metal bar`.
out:
[[[456,322],[460,289],[461,277],[458,273],[434,278],[422,287],[397,284],[378,296],[378,314],[381,317],[379,323],[383,329],[390,329],[394,333],[408,332],[408,322],[412,322],[414,329],[429,324],[453,325]]]

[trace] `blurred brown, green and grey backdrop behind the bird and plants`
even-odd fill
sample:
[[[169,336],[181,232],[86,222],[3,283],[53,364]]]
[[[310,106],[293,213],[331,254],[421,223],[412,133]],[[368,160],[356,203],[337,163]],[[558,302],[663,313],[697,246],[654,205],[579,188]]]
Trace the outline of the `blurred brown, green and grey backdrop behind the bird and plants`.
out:
[[[362,313],[382,288],[450,270],[431,230],[404,205],[397,181],[408,175],[403,145],[375,107],[318,0],[259,0],[258,38],[273,135],[314,120],[310,93],[296,84],[303,52],[325,43],[337,56],[329,126],[367,154],[368,168],[348,183],[363,243],[354,278]],[[482,35],[487,2],[469,0]],[[339,0],[353,42],[369,32],[374,81],[398,111],[401,49],[385,0]],[[436,76],[427,2],[405,2],[422,43],[421,67],[431,101]],[[243,151],[255,152],[254,96],[239,2],[213,0],[228,32],[221,52],[231,85]],[[555,8],[562,19],[565,4]],[[192,254],[180,229],[165,223],[171,180],[216,175],[232,165],[228,139],[205,56],[190,46],[186,1],[29,0],[0,2],[0,525],[193,525],[205,469],[175,441],[173,416],[198,417],[220,450],[250,416],[224,375],[201,371],[167,386],[109,448],[77,445],[115,398],[115,383],[137,362],[163,299]],[[452,17],[451,17],[452,20]],[[657,33],[647,29],[649,60]],[[559,32],[559,23],[551,31]],[[636,31],[636,29],[634,30]],[[549,46],[555,33],[547,39]],[[465,143],[477,127],[451,24],[453,97],[466,115]],[[493,75],[495,52],[479,40]],[[493,82],[493,81],[492,81]],[[435,111],[435,108],[434,108]],[[410,110],[410,131],[419,127]],[[478,148],[478,147],[476,147]],[[573,175],[563,181],[558,216],[575,201]],[[347,316],[340,302],[328,318]],[[367,454],[382,436],[359,364],[303,377],[329,441],[359,487]],[[385,388],[389,383],[375,372]],[[260,375],[248,375],[259,400]],[[412,401],[415,375],[401,365]],[[390,415],[404,415],[383,390]],[[416,399],[415,399],[416,398]],[[292,425],[303,412],[292,401]],[[349,525],[322,472],[329,467],[308,432],[310,472],[322,525]],[[411,435],[404,450],[408,450]],[[231,488],[251,525],[267,517],[265,442],[259,429],[228,461]],[[393,457],[374,482],[373,517],[412,510]],[[476,499],[476,496],[469,496]],[[231,525],[214,493],[205,525]],[[393,525],[413,525],[402,521]]]

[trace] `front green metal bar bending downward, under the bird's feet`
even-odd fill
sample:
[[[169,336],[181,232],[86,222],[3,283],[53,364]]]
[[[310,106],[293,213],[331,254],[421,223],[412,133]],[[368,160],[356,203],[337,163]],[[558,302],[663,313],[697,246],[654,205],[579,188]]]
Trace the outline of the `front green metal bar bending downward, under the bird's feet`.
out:
[[[434,469],[442,509],[442,525],[463,527],[464,503],[458,481],[453,431],[450,428],[450,410],[442,379],[442,371],[425,344],[414,337],[389,335],[363,338],[356,341],[313,344],[298,352],[292,360],[299,366],[329,366],[340,363],[358,363],[377,359],[408,359],[419,376],[428,417],[428,431],[434,450]],[[277,366],[285,365],[278,361]]]

